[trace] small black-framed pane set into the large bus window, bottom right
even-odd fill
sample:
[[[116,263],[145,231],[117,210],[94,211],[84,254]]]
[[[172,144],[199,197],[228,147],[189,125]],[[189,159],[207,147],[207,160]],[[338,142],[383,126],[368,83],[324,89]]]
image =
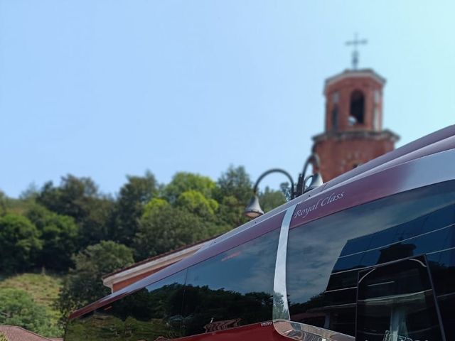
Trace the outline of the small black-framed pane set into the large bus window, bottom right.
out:
[[[423,256],[359,271],[356,340],[442,340]]]

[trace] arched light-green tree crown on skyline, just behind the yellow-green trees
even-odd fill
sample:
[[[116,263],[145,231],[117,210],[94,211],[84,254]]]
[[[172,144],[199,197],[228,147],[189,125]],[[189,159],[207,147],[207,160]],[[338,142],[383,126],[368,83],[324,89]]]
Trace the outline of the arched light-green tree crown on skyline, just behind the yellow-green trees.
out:
[[[168,202],[174,203],[183,192],[197,190],[204,197],[211,198],[215,186],[215,182],[207,176],[179,172],[173,175],[171,182],[164,188],[164,197]]]

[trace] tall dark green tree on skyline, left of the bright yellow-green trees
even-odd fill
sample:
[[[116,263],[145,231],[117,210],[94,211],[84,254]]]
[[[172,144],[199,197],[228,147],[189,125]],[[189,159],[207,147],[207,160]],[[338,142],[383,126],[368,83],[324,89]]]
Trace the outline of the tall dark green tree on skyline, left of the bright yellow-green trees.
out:
[[[144,206],[158,195],[154,175],[147,171],[144,176],[127,176],[127,183],[120,189],[115,205],[112,239],[130,245],[138,229],[138,221]]]

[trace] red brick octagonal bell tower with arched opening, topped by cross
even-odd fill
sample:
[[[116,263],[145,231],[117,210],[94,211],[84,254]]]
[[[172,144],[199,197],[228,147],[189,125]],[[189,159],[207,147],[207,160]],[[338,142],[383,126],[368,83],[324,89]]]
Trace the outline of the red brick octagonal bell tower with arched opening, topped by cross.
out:
[[[395,148],[400,137],[382,129],[382,88],[385,79],[371,69],[353,69],[326,80],[326,130],[313,137],[324,182]]]

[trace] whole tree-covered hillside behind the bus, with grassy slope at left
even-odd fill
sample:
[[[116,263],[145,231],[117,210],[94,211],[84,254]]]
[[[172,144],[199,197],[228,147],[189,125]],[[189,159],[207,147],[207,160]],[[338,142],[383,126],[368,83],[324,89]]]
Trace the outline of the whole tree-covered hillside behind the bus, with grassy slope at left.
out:
[[[60,335],[70,311],[109,293],[102,275],[237,227],[251,195],[245,168],[232,166],[216,181],[180,172],[160,184],[150,172],[131,175],[115,195],[73,175],[20,198],[0,192],[0,324]],[[266,211],[285,201],[269,188],[260,196]],[[26,272],[38,274],[13,276]],[[21,305],[34,307],[31,316]]]

